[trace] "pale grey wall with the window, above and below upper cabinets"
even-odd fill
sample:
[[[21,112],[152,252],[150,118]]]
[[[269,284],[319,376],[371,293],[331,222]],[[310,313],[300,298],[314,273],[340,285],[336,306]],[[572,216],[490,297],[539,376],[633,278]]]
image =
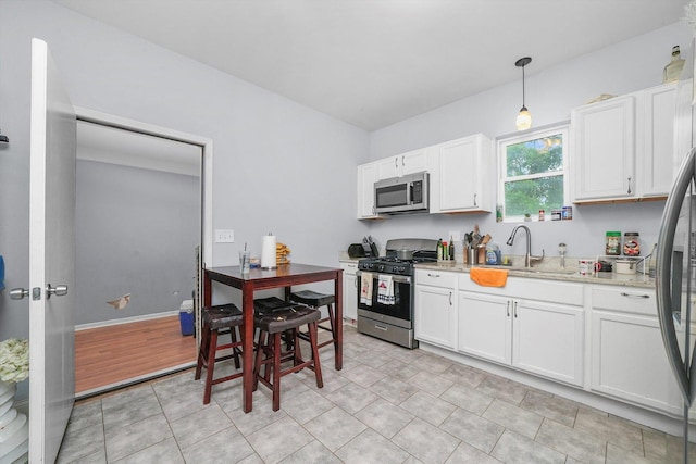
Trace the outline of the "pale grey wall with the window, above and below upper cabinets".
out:
[[[672,46],[686,50],[691,41],[686,25],[676,23],[540,73],[534,71],[532,61],[525,68],[525,102],[534,126],[570,120],[572,108],[600,93],[623,95],[661,84]],[[529,53],[534,58],[534,50]],[[520,79],[376,130],[370,135],[371,160],[476,133],[492,139],[508,135],[514,131],[521,103]],[[547,255],[558,256],[558,243],[566,242],[569,256],[591,258],[604,252],[606,230],[629,230],[641,233],[647,253],[657,239],[663,206],[663,201],[574,206],[572,222],[527,223],[532,251],[540,254],[545,249]],[[370,231],[382,242],[401,236],[445,239],[450,230],[470,231],[474,224],[489,233],[504,253],[524,254],[524,240],[517,240],[513,248],[505,246],[513,224],[496,223],[495,213],[398,216],[371,223]]]

